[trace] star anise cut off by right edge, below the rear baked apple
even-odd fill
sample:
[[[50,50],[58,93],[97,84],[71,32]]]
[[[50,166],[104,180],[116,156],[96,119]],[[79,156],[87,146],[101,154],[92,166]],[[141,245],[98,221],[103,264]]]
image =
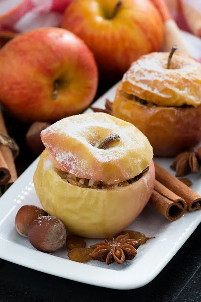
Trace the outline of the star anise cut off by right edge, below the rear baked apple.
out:
[[[185,151],[177,155],[171,168],[176,171],[176,176],[186,176],[189,173],[199,172],[199,159],[201,149],[195,151]]]

